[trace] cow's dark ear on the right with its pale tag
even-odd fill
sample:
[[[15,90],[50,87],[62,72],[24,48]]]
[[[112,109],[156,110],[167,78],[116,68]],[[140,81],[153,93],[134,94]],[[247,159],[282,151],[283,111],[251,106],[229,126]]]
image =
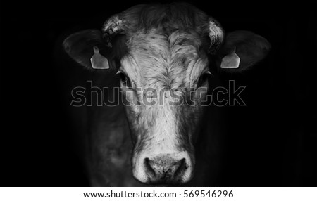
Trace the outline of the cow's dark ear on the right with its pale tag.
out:
[[[223,46],[216,53],[218,72],[242,72],[265,58],[270,43],[263,37],[248,31],[230,32]]]

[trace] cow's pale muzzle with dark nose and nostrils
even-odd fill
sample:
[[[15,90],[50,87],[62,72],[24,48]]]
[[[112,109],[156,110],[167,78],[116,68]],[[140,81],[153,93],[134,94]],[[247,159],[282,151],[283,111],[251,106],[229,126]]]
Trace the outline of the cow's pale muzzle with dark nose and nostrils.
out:
[[[132,157],[133,176],[152,185],[180,185],[192,179],[194,157],[187,151],[142,150]]]

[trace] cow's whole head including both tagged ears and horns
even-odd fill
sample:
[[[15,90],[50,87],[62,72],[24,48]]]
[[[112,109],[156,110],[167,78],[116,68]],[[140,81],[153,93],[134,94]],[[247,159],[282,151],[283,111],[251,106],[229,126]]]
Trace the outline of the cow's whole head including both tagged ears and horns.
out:
[[[188,4],[135,6],[106,20],[102,32],[78,32],[63,45],[83,66],[120,74],[132,171],[143,183],[192,179],[210,63],[246,70],[270,47],[251,32],[225,37],[216,20]]]

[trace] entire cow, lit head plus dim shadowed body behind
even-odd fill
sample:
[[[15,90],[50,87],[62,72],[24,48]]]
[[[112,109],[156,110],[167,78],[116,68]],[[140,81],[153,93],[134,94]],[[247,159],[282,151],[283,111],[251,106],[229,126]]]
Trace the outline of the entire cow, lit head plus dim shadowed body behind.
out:
[[[199,138],[212,129],[204,119],[213,114],[201,104],[210,80],[249,70],[271,45],[253,32],[225,34],[204,11],[172,3],[128,8],[101,31],[71,34],[63,48],[94,72],[95,86],[109,89],[105,97],[115,96],[116,86],[122,94],[118,105],[83,107],[82,150],[92,186],[203,186],[211,162],[197,152]]]

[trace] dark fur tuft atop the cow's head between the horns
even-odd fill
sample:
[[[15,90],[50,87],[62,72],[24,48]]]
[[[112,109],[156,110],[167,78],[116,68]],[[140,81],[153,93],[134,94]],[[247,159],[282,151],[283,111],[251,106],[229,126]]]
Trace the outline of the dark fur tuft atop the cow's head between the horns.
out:
[[[157,29],[165,34],[194,30],[208,35],[209,29],[209,16],[186,3],[137,5],[120,13],[120,19],[125,34]]]

